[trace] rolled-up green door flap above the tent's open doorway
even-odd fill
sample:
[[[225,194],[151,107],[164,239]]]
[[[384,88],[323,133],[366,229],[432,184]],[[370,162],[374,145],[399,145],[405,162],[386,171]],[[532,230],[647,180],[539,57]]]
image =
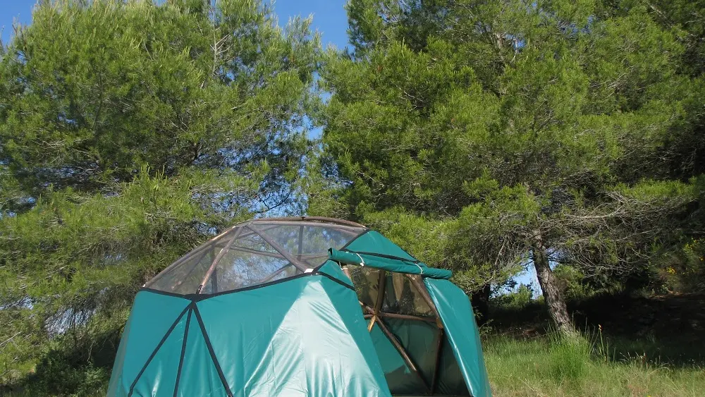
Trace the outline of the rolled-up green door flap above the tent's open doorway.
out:
[[[423,262],[401,257],[382,256],[369,252],[340,251],[335,248],[331,248],[328,252],[331,260],[344,264],[358,264],[398,273],[419,274],[432,279],[450,279],[450,276],[453,275],[450,270],[428,267]]]

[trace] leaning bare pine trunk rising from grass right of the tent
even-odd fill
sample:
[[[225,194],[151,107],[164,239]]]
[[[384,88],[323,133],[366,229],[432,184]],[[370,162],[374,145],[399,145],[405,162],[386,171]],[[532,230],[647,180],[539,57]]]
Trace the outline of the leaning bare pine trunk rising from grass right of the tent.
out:
[[[548,306],[548,313],[551,314],[551,319],[556,324],[558,331],[564,335],[572,336],[575,334],[575,327],[568,315],[568,308],[565,306],[563,293],[560,292],[556,277],[553,276],[551,266],[548,264],[546,247],[541,243],[540,237],[538,240],[532,251],[532,259],[541,291],[544,291],[544,300],[546,300],[546,305]]]

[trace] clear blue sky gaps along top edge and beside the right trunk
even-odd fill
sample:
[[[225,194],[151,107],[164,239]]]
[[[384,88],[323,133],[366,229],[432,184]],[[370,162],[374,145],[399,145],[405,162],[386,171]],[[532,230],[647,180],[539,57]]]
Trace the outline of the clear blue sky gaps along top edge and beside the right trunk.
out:
[[[0,0],[0,29],[4,43],[12,36],[13,20],[23,24],[31,22],[35,3],[35,0]],[[344,4],[345,0],[276,0],[274,11],[280,25],[285,25],[294,16],[313,16],[313,28],[321,33],[324,47],[333,44],[343,48],[348,45],[348,17]],[[540,291],[533,269],[517,276],[516,281],[532,284],[534,291]]]

